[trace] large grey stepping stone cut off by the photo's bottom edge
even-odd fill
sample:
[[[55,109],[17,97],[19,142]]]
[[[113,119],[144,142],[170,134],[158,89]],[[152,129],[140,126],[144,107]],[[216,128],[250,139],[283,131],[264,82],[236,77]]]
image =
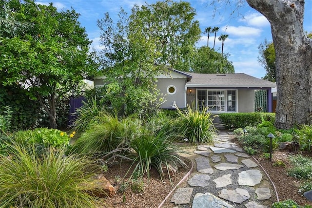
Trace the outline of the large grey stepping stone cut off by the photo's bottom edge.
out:
[[[196,193],[192,208],[234,208],[232,205],[211,193]]]

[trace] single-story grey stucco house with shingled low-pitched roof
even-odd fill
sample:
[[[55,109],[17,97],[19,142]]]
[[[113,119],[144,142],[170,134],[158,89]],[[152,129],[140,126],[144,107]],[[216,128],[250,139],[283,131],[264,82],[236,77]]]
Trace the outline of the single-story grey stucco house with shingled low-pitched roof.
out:
[[[156,76],[157,87],[166,101],[163,109],[183,109],[197,103],[196,108],[208,107],[211,113],[254,112],[254,91],[271,89],[276,84],[244,73],[196,74],[170,70]],[[95,77],[95,87],[103,83],[103,77]],[[268,112],[272,112],[272,96],[268,96]]]

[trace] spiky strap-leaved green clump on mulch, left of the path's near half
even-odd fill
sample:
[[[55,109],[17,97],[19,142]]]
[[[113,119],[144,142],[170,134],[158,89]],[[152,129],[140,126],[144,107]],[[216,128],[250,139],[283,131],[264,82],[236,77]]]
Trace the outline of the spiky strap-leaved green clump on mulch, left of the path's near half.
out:
[[[154,167],[162,178],[166,173],[170,176],[176,172],[179,166],[185,166],[177,154],[181,151],[162,132],[156,136],[142,134],[136,137],[131,142],[131,148],[135,151],[133,174],[146,173],[149,176],[149,171]]]

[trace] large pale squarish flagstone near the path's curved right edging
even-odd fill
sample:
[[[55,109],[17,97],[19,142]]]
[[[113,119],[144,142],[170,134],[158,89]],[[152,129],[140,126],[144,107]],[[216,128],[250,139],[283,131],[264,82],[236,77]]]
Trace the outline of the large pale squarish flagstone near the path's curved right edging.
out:
[[[239,186],[254,186],[262,180],[260,170],[246,170],[238,173]]]

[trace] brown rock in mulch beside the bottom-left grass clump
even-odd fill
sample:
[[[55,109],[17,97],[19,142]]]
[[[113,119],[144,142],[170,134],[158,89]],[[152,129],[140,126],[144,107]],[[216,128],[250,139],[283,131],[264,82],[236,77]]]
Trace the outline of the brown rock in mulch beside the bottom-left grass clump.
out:
[[[114,196],[116,194],[115,187],[104,177],[103,174],[96,176],[93,181],[89,183],[83,183],[81,185],[88,194],[97,196],[99,198],[105,198],[107,196]]]

